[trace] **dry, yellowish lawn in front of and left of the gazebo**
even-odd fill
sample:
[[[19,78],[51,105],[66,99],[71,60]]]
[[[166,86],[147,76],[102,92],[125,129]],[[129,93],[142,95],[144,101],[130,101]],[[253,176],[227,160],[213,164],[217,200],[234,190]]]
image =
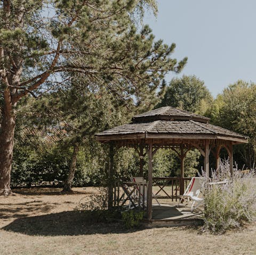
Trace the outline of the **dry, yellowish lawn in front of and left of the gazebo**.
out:
[[[75,209],[93,188],[17,190],[0,198],[0,254],[256,254],[256,226],[225,235],[199,228],[140,228],[90,222]]]

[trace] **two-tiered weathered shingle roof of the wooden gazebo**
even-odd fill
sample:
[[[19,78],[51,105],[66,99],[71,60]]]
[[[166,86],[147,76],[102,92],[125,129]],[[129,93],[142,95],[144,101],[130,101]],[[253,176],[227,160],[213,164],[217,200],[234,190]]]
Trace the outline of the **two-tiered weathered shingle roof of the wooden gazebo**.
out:
[[[226,139],[246,143],[247,136],[209,124],[210,119],[195,113],[162,107],[139,114],[130,124],[111,128],[96,135],[98,141],[138,138]]]

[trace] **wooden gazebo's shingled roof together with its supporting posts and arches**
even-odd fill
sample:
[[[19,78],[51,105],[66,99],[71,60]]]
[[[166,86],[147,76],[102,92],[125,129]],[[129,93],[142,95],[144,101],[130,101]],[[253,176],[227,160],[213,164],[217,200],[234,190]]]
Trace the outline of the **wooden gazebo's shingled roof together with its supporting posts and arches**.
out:
[[[152,218],[153,157],[159,148],[172,149],[181,160],[180,193],[184,191],[184,158],[193,148],[198,149],[204,157],[204,171],[209,176],[209,154],[213,153],[216,169],[220,164],[220,149],[225,147],[230,161],[230,174],[233,174],[233,145],[247,143],[247,136],[211,125],[210,119],[184,110],[162,107],[139,114],[132,122],[111,128],[96,134],[98,141],[110,144],[109,176],[113,179],[114,146],[134,147],[140,156],[140,175],[142,176],[142,159],[148,155],[148,190],[147,218]],[[146,150],[146,153],[144,152]],[[109,201],[113,201],[113,186],[110,185]],[[109,204],[111,206],[111,203]]]

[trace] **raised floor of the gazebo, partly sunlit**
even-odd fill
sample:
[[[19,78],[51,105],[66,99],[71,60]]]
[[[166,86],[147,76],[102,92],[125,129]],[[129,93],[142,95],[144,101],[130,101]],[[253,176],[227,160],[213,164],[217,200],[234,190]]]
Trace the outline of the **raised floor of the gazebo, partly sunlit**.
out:
[[[174,227],[202,225],[202,213],[192,213],[190,208],[174,204],[153,204],[151,220],[145,220],[148,227]]]

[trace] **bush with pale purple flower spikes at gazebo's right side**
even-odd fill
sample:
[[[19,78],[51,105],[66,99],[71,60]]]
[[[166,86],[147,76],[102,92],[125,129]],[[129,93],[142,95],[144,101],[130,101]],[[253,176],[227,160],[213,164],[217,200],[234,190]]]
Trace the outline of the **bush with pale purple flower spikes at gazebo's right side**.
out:
[[[256,221],[256,178],[253,171],[241,175],[237,168],[230,178],[229,163],[221,164],[220,170],[212,173],[212,181],[228,180],[226,184],[206,187],[204,229],[224,233]]]

